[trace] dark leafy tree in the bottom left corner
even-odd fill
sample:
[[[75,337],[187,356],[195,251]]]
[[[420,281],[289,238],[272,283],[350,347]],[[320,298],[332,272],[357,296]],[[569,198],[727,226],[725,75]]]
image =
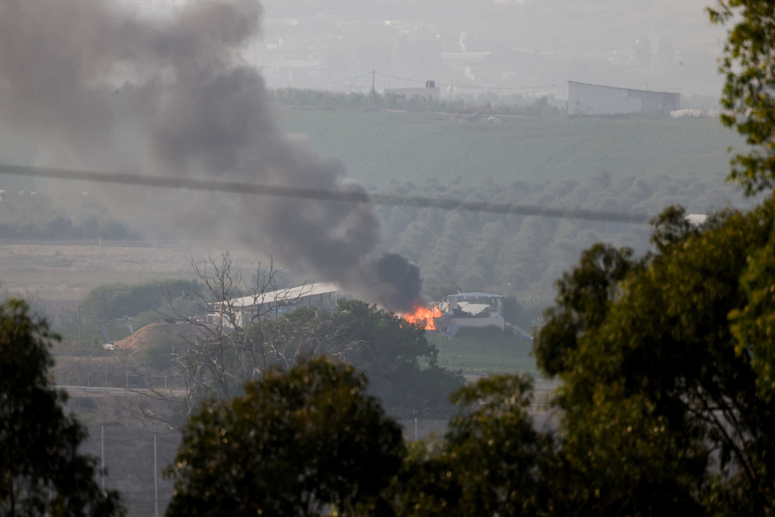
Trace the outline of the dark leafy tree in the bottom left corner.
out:
[[[0,305],[0,515],[122,515],[115,491],[95,481],[95,459],[78,453],[85,429],[51,385],[58,340],[26,303]]]

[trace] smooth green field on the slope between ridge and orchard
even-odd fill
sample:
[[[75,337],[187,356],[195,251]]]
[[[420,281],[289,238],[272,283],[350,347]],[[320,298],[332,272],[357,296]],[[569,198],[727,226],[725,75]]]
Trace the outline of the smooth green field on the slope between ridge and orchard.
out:
[[[600,171],[720,180],[727,146],[741,142],[717,119],[507,117],[492,124],[428,112],[293,108],[279,118],[288,133],[308,134],[315,149],[343,160],[371,188],[458,176],[468,184],[583,181]]]

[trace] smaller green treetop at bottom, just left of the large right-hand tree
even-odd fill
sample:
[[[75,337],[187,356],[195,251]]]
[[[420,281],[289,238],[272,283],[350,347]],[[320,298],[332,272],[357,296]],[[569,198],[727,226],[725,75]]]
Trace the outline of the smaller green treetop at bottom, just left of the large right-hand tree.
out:
[[[532,381],[496,375],[452,395],[460,412],[442,443],[412,447],[387,491],[397,515],[540,515],[553,508],[553,438],[535,429]]]

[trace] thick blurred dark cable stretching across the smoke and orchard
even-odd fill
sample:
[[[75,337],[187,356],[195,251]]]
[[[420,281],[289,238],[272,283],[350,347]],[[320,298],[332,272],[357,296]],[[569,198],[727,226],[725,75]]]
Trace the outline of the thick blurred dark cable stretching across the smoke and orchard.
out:
[[[512,203],[490,203],[462,201],[449,198],[426,198],[422,196],[401,196],[389,194],[367,194],[365,192],[334,191],[318,188],[282,187],[241,183],[235,181],[195,180],[191,178],[167,178],[142,174],[106,173],[100,171],[77,171],[31,167],[28,165],[0,164],[0,174],[13,174],[33,178],[53,178],[70,181],[96,181],[98,183],[128,184],[143,187],[182,188],[196,191],[229,192],[231,194],[267,195],[277,198],[310,199],[329,202],[371,203],[386,206],[407,206],[442,210],[464,210],[492,214],[539,215],[557,219],[584,219],[587,221],[632,222],[646,224],[645,214],[621,212],[600,212],[584,209],[553,209],[546,206],[519,205]]]

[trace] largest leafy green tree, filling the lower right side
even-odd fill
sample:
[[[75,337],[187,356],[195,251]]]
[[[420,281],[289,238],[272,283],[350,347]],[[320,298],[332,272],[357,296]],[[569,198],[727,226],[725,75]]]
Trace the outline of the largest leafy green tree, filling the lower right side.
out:
[[[598,245],[558,283],[536,340],[562,381],[575,507],[762,515],[775,503],[775,200],[703,228],[669,209],[656,253]],[[594,488],[595,498],[584,490]]]

